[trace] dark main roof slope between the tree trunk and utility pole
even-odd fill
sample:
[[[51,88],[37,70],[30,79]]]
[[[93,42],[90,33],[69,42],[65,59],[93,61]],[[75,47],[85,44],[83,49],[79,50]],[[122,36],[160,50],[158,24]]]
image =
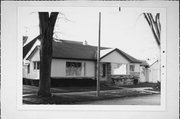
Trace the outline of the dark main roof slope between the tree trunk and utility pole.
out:
[[[107,48],[101,47],[103,49]],[[96,46],[53,41],[53,58],[96,60],[96,52]]]

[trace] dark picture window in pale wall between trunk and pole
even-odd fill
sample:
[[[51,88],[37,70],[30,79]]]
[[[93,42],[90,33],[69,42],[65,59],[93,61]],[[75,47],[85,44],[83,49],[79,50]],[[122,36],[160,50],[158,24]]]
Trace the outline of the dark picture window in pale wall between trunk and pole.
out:
[[[66,76],[81,76],[81,62],[66,62]]]

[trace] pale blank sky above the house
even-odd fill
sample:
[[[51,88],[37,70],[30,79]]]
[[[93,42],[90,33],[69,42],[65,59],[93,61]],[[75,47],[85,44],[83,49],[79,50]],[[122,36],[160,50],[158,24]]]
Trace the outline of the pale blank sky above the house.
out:
[[[150,64],[158,59],[159,48],[142,13],[160,13],[164,25],[165,14],[160,8],[121,7],[119,11],[119,7],[22,7],[18,12],[18,33],[28,36],[28,41],[39,35],[39,11],[59,12],[54,37],[96,46],[101,12],[101,46],[118,48],[140,60],[149,59]]]

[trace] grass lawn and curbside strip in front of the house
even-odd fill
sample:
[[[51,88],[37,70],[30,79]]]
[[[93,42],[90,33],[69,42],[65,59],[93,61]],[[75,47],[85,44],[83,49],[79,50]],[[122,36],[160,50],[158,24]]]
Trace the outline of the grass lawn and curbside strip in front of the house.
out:
[[[152,87],[155,84],[143,83],[133,86],[124,86],[124,87]],[[121,97],[129,96],[139,96],[153,94],[151,92],[143,92],[137,90],[126,90],[122,87],[117,87],[114,85],[101,84],[101,93],[100,96],[96,96],[96,87],[54,87],[51,88],[53,96],[48,98],[38,97],[37,91],[38,87],[36,86],[23,86],[23,94],[32,94],[24,95],[23,103],[24,104],[83,104],[83,102],[88,101],[98,101],[98,100],[107,100]],[[106,91],[112,90],[112,91]],[[92,92],[93,91],[93,92]]]

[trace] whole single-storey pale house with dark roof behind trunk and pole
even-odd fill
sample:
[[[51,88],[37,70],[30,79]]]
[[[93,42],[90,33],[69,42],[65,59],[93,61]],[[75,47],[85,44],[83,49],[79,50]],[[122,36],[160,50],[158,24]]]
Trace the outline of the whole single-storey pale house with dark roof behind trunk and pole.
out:
[[[40,36],[23,47],[23,78],[38,82],[40,69]],[[133,84],[140,80],[142,61],[119,49],[101,47],[100,80],[121,84]],[[110,50],[110,51],[109,51]],[[103,52],[107,52],[103,54]],[[54,40],[51,64],[51,78],[54,84],[63,81],[73,83],[96,83],[97,47],[82,42]],[[114,80],[115,79],[115,80]],[[88,83],[87,83],[88,82]],[[119,82],[119,81],[118,81]],[[122,83],[123,82],[123,83]],[[61,83],[61,84],[63,84]],[[59,83],[60,84],[60,83]]]

